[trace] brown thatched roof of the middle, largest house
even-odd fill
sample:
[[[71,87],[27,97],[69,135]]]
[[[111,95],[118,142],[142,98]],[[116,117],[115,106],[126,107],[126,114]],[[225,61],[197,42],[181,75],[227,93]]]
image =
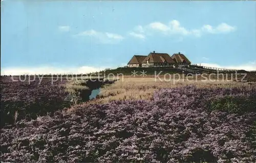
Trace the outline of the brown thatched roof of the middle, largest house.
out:
[[[142,63],[175,63],[175,61],[167,53],[150,53],[142,61]]]

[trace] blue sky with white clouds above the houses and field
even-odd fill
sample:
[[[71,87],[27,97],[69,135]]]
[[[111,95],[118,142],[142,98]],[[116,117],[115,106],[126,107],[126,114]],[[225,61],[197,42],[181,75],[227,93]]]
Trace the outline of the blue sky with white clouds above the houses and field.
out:
[[[153,51],[256,69],[253,1],[1,3],[1,74],[90,72]]]

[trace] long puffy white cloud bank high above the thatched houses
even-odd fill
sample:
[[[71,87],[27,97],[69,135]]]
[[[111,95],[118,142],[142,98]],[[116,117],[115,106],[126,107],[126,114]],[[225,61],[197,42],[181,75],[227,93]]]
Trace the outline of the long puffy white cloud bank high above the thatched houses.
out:
[[[152,33],[158,32],[164,35],[181,35],[181,36],[196,36],[200,37],[205,33],[218,34],[218,33],[229,33],[235,31],[237,28],[230,26],[226,23],[221,23],[217,27],[212,27],[210,25],[203,25],[197,29],[186,29],[182,27],[178,20],[172,20],[168,24],[163,24],[162,22],[152,22],[145,26],[137,26],[134,28],[134,33],[145,35],[150,35]]]

